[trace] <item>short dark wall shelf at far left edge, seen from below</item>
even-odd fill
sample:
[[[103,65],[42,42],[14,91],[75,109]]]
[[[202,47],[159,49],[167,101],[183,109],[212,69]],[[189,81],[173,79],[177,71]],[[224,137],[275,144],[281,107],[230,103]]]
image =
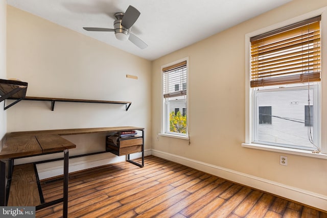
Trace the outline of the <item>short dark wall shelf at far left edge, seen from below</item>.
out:
[[[16,100],[10,105],[4,107],[4,110],[10,108],[25,98],[27,85],[28,83],[26,82],[0,79],[0,102],[9,98],[14,98]]]

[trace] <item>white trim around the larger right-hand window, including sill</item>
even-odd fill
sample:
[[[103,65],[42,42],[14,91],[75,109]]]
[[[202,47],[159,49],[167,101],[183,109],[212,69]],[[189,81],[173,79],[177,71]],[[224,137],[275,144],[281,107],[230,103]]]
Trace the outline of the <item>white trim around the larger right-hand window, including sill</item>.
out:
[[[320,27],[322,27],[320,30],[320,38],[321,38],[321,82],[320,82],[321,85],[320,87],[321,88],[319,89],[319,93],[318,93],[320,98],[319,143],[321,144],[321,152],[319,154],[316,154],[311,151],[251,143],[253,141],[252,140],[253,127],[251,122],[251,120],[253,119],[253,115],[252,115],[253,114],[253,107],[252,107],[253,89],[250,88],[250,82],[249,82],[250,81],[250,44],[249,44],[250,38],[319,15],[321,15]],[[325,46],[325,44],[327,45],[326,27],[327,27],[327,7],[324,7],[245,35],[245,142],[242,143],[242,147],[327,159],[327,134],[322,134],[327,132],[327,114],[322,113],[322,111],[327,111],[327,98],[326,98],[327,96],[321,96],[321,93],[327,93],[327,75],[326,75],[327,46]]]

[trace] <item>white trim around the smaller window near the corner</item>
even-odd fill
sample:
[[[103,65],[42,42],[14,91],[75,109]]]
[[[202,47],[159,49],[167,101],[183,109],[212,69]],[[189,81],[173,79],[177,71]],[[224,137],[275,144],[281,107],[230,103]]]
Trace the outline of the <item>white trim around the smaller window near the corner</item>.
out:
[[[177,63],[180,63],[180,62],[183,62],[183,61],[186,61],[186,68],[187,68],[187,71],[186,71],[186,114],[187,114],[187,124],[188,124],[188,127],[187,127],[187,131],[186,131],[186,134],[171,134],[171,133],[166,133],[165,132],[165,117],[164,117],[164,113],[166,112],[164,107],[164,92],[162,90],[162,69],[165,68],[165,67],[168,67],[168,66],[172,66],[174,64],[177,64]],[[177,61],[174,61],[174,62],[171,62],[171,63],[168,63],[168,64],[165,64],[165,65],[162,65],[161,66],[161,70],[160,70],[160,88],[161,88],[161,111],[160,111],[160,115],[161,115],[161,125],[160,125],[160,133],[158,135],[160,136],[167,136],[167,137],[172,137],[172,138],[180,138],[180,139],[189,139],[189,120],[190,120],[190,115],[189,115],[189,72],[190,72],[190,68],[189,68],[189,57],[185,57],[185,58],[182,58],[182,59],[179,59]]]

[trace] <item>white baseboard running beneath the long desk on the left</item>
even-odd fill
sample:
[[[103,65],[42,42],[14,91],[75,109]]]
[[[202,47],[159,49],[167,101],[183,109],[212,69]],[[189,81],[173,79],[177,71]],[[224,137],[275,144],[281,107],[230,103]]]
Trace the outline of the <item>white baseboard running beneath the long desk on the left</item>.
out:
[[[144,156],[151,155],[150,150],[144,152]],[[142,157],[141,153],[130,155],[130,159]],[[69,173],[81,171],[92,167],[118,163],[126,160],[126,156],[116,156],[111,153],[103,153],[69,159]],[[39,179],[46,179],[63,174],[63,160],[36,164]]]

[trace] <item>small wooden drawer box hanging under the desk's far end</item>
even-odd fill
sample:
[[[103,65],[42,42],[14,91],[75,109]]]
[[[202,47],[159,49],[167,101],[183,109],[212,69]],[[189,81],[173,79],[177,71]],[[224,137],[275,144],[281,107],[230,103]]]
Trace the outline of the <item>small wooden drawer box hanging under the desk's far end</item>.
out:
[[[106,151],[122,156],[142,152],[142,145],[142,137],[118,138],[117,143],[115,144],[112,140],[109,140],[107,136]]]

